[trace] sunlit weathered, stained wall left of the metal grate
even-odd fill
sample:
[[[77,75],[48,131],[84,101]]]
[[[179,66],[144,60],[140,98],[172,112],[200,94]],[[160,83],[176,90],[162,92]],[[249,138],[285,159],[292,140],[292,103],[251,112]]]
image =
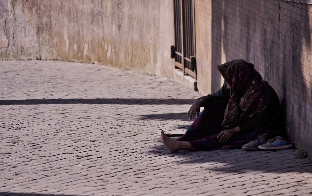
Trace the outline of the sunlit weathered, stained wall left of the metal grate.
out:
[[[172,78],[170,0],[0,0],[0,59],[99,62]]]

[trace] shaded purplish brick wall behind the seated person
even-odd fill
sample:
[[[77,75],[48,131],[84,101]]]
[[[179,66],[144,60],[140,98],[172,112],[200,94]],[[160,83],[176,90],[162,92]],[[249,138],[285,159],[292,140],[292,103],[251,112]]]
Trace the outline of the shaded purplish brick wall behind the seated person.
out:
[[[227,61],[243,58],[253,63],[283,100],[289,140],[308,150],[309,156],[312,155],[311,10],[309,4],[278,0],[212,3],[212,74],[217,75],[215,67],[221,61],[221,47]],[[219,38],[220,35],[223,37]],[[219,84],[219,77],[215,78],[212,77],[216,80],[212,85]]]

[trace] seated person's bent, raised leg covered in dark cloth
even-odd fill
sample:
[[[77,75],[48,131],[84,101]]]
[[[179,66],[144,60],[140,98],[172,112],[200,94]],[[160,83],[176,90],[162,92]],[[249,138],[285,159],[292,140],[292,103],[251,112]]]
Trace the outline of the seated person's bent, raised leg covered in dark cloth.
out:
[[[219,133],[225,109],[226,105],[221,104],[213,104],[205,108],[178,141],[201,140]]]

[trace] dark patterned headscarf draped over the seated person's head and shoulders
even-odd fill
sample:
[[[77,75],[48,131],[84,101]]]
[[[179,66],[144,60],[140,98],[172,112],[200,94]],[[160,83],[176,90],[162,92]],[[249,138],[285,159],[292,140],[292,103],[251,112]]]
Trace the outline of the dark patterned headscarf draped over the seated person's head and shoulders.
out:
[[[224,113],[224,127],[237,127],[265,111],[270,96],[268,85],[252,63],[242,59],[232,60],[218,65],[218,70],[234,92]]]

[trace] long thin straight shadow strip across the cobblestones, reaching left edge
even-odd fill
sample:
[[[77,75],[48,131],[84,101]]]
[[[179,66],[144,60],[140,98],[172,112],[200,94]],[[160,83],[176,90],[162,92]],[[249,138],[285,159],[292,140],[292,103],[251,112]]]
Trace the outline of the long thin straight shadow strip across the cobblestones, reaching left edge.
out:
[[[22,99],[0,100],[0,106],[45,104],[191,105],[193,99]]]

